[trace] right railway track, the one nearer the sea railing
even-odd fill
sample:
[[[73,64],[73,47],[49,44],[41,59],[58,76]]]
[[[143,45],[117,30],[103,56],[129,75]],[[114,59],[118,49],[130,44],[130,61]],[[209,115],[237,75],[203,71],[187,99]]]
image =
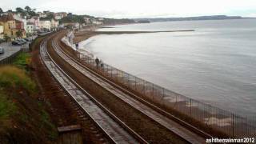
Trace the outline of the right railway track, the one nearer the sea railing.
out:
[[[165,115],[159,113],[157,110],[152,109],[150,106],[146,106],[142,102],[140,102],[136,98],[130,97],[129,94],[123,92],[123,90],[119,90],[117,86],[113,86],[113,82],[111,83],[106,78],[103,78],[101,75],[95,73],[93,70],[90,70],[86,66],[83,66],[80,62],[70,57],[70,55],[66,54],[61,46],[58,45],[59,38],[55,37],[51,45],[53,46],[55,52],[64,59],[70,66],[74,66],[76,70],[78,70],[81,74],[90,78],[93,82],[97,83],[99,86],[102,86],[105,90],[109,91],[111,94],[114,94],[117,98],[126,102],[127,105],[132,106],[134,109],[138,110],[141,114],[146,115],[148,118],[153,120],[154,122],[158,122],[161,126],[166,127],[170,132],[177,134],[180,138],[189,143],[204,143],[206,141],[206,137],[198,133],[202,133],[199,131],[198,133],[194,133],[194,131],[187,129],[185,126],[181,126],[180,123],[167,118]],[[210,137],[210,134],[206,134]]]

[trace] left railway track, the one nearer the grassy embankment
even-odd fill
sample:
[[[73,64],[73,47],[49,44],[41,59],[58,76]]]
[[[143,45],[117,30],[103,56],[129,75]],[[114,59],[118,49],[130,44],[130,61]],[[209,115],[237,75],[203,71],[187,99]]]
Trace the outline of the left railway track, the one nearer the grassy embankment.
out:
[[[147,143],[136,132],[131,130],[124,122],[112,114],[106,107],[102,106],[96,99],[83,90],[78,83],[74,82],[68,74],[62,70],[47,51],[46,38],[40,46],[40,55],[46,68],[54,76],[56,81],[69,94],[85,114],[87,114],[100,130],[113,143]]]

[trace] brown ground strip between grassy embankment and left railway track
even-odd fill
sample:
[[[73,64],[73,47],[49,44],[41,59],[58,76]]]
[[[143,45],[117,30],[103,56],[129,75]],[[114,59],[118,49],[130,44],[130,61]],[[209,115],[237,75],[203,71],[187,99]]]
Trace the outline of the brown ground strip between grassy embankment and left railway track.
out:
[[[48,110],[50,117],[56,126],[70,126],[79,124],[82,126],[82,138],[85,143],[110,143],[102,130],[86,115],[83,110],[74,102],[66,91],[51,76],[50,71],[39,57],[39,47],[42,38],[38,38],[38,43],[32,44],[32,66],[33,75],[36,77],[38,87],[41,90],[40,101],[50,103]]]

